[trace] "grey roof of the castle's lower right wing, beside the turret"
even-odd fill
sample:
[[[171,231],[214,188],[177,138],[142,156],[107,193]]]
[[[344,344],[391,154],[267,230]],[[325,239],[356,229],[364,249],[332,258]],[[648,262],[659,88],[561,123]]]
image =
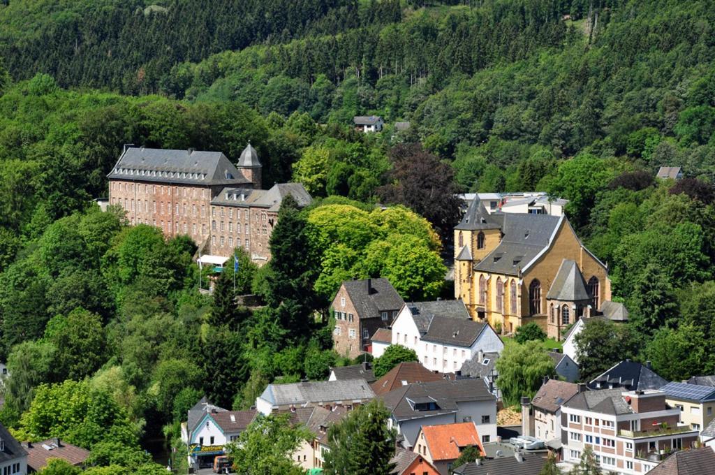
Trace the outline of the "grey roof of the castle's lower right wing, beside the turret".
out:
[[[277,183],[270,190],[247,187],[226,187],[211,200],[212,205],[234,207],[262,207],[277,211],[283,198],[291,195],[299,207],[310,205],[312,197],[301,183]]]

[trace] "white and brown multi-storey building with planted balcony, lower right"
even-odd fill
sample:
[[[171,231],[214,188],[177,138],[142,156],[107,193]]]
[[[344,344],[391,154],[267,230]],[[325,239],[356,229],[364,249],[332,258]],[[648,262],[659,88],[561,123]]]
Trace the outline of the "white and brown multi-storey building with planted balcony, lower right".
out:
[[[593,450],[603,471],[643,474],[674,451],[694,446],[698,431],[680,426],[680,409],[658,390],[577,393],[561,406],[563,460],[578,464]]]

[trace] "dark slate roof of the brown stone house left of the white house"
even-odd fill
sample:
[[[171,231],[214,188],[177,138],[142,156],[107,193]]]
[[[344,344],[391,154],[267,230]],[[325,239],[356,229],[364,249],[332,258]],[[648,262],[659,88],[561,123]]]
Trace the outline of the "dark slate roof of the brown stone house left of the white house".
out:
[[[390,280],[385,278],[345,280],[342,285],[359,318],[378,318],[381,312],[400,310],[405,304]]]

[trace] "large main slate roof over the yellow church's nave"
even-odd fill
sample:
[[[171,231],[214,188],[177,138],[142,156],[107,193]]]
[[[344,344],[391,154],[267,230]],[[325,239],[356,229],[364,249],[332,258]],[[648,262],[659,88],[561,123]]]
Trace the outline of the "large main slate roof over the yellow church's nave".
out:
[[[562,217],[515,213],[493,213],[503,218],[501,243],[477,265],[475,270],[518,275],[520,269],[551,245],[551,237]]]

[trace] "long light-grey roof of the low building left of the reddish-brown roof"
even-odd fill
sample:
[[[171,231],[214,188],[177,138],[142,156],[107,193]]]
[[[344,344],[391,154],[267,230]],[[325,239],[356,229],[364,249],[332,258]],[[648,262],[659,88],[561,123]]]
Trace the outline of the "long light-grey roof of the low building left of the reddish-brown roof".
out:
[[[285,406],[288,404],[362,401],[374,398],[375,393],[364,379],[346,379],[344,381],[269,384],[260,397],[273,406]]]

